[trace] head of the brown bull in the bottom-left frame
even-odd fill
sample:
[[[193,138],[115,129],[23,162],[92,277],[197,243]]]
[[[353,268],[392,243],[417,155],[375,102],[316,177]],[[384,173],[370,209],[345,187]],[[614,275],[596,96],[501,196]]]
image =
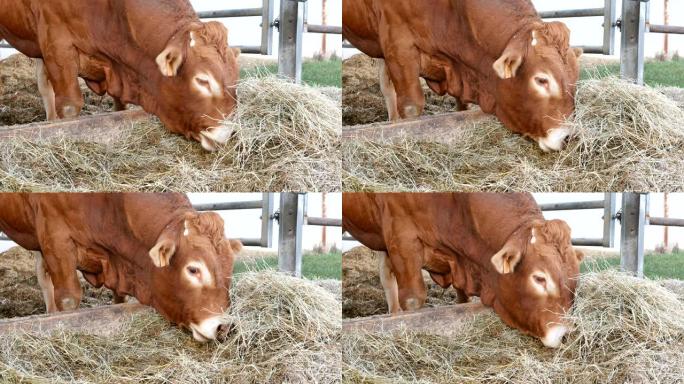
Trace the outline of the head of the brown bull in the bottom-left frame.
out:
[[[189,213],[161,233],[149,252],[153,266],[150,304],[168,320],[188,328],[195,340],[215,339],[227,326],[228,290],[235,252],[223,220],[213,212]]]

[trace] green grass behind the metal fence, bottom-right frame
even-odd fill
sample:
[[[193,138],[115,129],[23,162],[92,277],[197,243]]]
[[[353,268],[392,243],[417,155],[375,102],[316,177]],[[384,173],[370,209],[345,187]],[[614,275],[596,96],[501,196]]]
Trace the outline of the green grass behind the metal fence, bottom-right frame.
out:
[[[604,270],[607,268],[619,268],[620,258],[598,259],[593,262],[582,263],[582,272],[591,270]],[[648,254],[644,256],[644,275],[648,278],[679,279],[684,280],[684,254]]]

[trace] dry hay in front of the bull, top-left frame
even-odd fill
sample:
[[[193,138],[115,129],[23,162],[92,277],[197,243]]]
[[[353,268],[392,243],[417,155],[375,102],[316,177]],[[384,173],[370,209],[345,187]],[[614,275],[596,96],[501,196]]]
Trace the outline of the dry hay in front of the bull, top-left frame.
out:
[[[216,153],[156,119],[111,144],[70,138],[0,142],[4,191],[338,191],[340,107],[274,76],[238,85],[240,106]]]

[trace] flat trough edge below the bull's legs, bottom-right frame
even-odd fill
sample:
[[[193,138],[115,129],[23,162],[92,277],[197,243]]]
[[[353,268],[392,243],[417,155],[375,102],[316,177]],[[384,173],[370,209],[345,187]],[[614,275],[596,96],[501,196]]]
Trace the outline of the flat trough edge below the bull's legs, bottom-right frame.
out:
[[[342,330],[344,332],[389,332],[406,328],[412,331],[426,331],[439,335],[448,335],[452,332],[455,324],[484,311],[491,311],[491,309],[481,303],[422,308],[417,311],[401,312],[396,315],[378,315],[345,320],[342,323]]]

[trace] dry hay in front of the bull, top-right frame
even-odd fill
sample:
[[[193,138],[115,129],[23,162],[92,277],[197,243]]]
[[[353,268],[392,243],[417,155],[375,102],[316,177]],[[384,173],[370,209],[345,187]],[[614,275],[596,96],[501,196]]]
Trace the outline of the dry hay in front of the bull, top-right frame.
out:
[[[616,78],[580,83],[577,135],[558,153],[494,117],[447,144],[345,141],[348,191],[677,191],[684,185],[684,111],[657,90]]]

